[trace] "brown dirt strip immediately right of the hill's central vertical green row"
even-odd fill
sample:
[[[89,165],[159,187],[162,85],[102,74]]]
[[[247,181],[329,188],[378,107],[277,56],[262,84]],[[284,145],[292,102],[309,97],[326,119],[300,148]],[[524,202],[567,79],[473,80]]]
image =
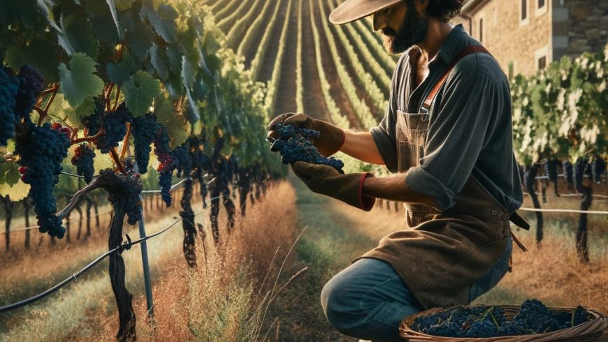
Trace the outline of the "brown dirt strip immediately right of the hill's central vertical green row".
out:
[[[317,119],[331,121],[329,110],[321,91],[321,80],[314,53],[312,27],[310,27],[310,6],[302,1],[302,78],[304,112]]]

